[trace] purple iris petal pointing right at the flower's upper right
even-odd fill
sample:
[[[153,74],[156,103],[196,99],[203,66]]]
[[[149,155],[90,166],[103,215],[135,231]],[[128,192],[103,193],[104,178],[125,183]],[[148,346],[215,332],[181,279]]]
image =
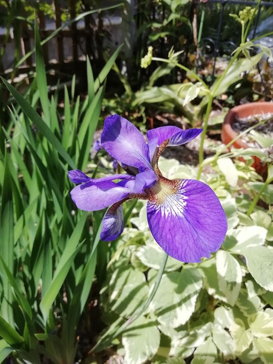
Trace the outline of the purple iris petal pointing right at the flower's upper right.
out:
[[[150,144],[155,138],[158,138],[157,146],[161,145],[161,143],[163,143],[165,140],[170,139],[167,145],[175,146],[190,142],[202,131],[203,129],[182,130],[177,126],[161,126],[156,129],[148,130],[147,139]]]

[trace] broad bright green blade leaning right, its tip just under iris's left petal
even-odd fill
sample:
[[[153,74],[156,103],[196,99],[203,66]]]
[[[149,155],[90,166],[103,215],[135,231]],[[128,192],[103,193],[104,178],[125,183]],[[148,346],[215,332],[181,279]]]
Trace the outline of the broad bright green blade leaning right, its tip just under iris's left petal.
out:
[[[66,248],[63,251],[62,257],[60,258],[51,285],[40,302],[40,309],[43,312],[44,317],[48,316],[50,307],[54,302],[60,288],[62,287],[64,279],[67,276],[76,253],[78,253],[79,247],[77,249],[76,247],[79,243],[80,236],[82,235],[82,230],[84,224],[86,223],[87,214],[87,211],[84,211],[78,224],[76,225],[74,232],[66,244]]]

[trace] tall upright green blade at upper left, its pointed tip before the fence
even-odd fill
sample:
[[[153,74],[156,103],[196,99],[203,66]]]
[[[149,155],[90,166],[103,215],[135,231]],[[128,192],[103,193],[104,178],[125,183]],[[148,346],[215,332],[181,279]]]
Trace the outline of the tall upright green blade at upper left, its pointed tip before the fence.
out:
[[[39,29],[35,17],[35,55],[36,55],[36,80],[40,94],[41,106],[44,112],[44,121],[50,126],[50,111],[47,92],[46,67],[44,66],[43,50],[40,43]]]

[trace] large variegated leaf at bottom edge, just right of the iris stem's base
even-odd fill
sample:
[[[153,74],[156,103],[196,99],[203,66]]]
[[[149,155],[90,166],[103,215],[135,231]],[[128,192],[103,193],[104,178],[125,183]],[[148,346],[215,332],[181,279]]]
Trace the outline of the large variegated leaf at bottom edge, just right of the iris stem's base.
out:
[[[140,316],[122,335],[124,364],[140,364],[151,360],[157,353],[160,333],[153,321]]]

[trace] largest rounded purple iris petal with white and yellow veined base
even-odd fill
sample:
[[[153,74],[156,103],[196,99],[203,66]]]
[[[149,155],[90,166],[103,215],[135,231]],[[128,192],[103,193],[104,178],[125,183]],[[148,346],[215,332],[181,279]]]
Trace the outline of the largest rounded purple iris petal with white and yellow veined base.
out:
[[[209,258],[227,231],[225,213],[213,190],[192,179],[161,177],[150,190],[147,218],[161,248],[183,262]]]

